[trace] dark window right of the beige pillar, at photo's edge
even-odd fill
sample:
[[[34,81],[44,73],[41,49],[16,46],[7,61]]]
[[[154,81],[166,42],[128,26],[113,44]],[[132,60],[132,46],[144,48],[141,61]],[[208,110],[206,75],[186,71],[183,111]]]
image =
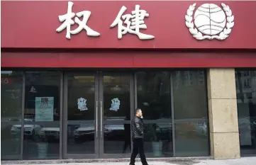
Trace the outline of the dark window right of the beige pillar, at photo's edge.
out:
[[[256,71],[236,70],[241,154],[256,154]]]

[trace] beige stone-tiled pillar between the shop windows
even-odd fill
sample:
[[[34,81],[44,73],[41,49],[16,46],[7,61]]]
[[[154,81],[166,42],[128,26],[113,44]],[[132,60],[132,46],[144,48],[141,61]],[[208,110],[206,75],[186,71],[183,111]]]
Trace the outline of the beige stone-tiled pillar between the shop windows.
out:
[[[208,110],[211,156],[240,158],[235,69],[208,69]]]

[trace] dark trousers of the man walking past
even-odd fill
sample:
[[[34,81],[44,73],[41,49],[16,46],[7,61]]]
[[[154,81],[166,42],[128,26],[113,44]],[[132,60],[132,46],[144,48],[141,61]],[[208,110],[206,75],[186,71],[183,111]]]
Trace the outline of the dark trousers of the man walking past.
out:
[[[144,154],[144,140],[143,138],[133,138],[133,152],[130,157],[130,164],[135,164],[135,158],[138,153],[140,154],[140,160],[143,165],[148,165]]]

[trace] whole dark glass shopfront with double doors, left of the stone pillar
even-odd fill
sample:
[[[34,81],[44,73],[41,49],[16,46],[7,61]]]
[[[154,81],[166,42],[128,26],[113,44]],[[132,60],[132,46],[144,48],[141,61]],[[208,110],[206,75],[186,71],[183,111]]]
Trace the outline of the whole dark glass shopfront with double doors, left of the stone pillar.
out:
[[[128,158],[137,107],[146,157],[209,155],[204,70],[119,71],[1,72],[4,159]]]

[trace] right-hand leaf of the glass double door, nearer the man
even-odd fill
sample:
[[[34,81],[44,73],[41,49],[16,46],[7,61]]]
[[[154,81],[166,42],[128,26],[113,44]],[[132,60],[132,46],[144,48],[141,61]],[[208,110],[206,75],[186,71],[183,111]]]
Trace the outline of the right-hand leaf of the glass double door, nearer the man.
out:
[[[133,77],[130,74],[99,75],[101,158],[130,157],[130,117],[133,116]]]

